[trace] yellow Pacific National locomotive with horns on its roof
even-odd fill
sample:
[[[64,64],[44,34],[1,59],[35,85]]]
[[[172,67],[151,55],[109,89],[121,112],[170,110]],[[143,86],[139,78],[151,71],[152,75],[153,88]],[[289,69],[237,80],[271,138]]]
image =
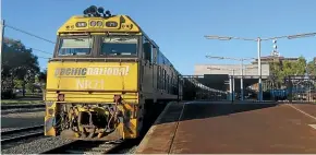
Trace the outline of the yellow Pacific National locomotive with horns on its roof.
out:
[[[45,135],[138,138],[148,105],[181,99],[179,75],[130,16],[92,5],[58,29],[48,62]]]

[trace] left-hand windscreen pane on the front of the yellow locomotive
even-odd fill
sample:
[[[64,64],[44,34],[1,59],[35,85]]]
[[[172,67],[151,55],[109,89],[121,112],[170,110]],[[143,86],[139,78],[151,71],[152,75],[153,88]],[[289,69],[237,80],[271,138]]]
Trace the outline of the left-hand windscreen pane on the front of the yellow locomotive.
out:
[[[59,56],[90,55],[93,38],[62,38],[59,45]]]

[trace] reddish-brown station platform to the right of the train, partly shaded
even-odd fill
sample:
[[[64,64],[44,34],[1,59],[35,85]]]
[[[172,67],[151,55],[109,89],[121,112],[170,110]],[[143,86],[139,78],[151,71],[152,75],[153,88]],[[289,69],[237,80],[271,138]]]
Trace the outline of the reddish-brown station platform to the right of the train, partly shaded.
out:
[[[170,103],[135,154],[316,153],[316,104]]]

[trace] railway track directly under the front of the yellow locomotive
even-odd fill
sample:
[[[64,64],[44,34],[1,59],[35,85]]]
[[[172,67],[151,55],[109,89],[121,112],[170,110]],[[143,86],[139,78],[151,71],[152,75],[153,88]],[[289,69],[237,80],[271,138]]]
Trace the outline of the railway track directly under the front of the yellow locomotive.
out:
[[[40,154],[112,154],[126,146],[126,141],[74,141]]]

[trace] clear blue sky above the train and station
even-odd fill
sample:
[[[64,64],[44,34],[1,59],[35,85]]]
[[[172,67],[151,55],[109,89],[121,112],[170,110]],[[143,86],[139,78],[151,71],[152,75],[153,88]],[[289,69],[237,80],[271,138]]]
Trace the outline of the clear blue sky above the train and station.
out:
[[[206,59],[206,55],[257,57],[255,41],[210,40],[204,35],[256,38],[316,32],[315,0],[2,0],[2,19],[11,26],[56,40],[57,29],[92,4],[130,15],[182,74],[193,74],[194,64],[238,63]],[[48,52],[54,48],[10,28],[4,36]],[[284,57],[312,59],[316,57],[316,37],[279,39],[278,49]],[[262,44],[263,56],[271,50],[271,40]],[[39,62],[47,64],[46,59]]]

